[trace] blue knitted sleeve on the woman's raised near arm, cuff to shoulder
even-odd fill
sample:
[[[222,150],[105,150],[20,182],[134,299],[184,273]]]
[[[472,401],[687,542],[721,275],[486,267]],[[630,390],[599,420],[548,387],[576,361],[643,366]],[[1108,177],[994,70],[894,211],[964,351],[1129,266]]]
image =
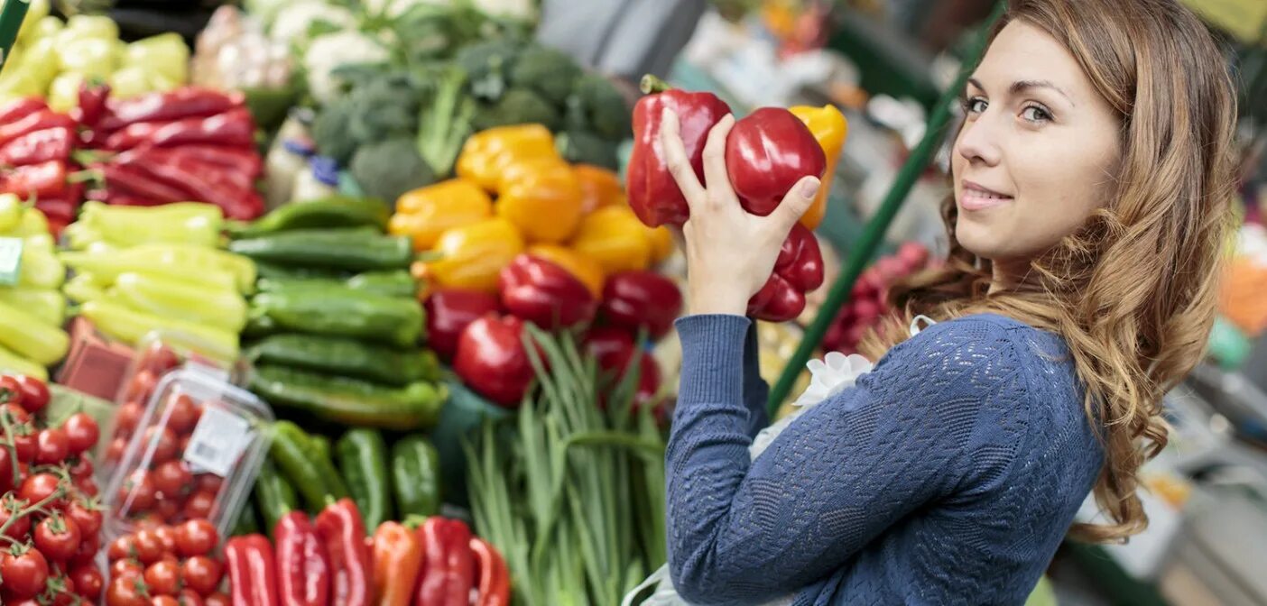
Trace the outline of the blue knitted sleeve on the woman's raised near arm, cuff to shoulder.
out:
[[[1007,331],[938,324],[792,423],[755,462],[741,399],[742,319],[678,321],[683,372],[666,452],[669,568],[692,603],[760,602],[839,569],[964,482],[1003,476],[1024,406]],[[1010,434],[1007,434],[1010,435]]]

